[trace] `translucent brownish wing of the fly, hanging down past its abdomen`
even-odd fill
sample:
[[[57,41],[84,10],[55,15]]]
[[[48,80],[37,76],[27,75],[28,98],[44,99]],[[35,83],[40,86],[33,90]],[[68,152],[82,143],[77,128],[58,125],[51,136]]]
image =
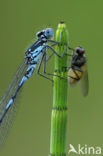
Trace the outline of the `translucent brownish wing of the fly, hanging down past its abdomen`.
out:
[[[83,71],[82,78],[80,80],[80,90],[83,94],[83,96],[88,95],[88,90],[89,90],[89,80],[88,80],[88,71],[87,71],[87,66],[86,64],[81,67],[81,70]]]

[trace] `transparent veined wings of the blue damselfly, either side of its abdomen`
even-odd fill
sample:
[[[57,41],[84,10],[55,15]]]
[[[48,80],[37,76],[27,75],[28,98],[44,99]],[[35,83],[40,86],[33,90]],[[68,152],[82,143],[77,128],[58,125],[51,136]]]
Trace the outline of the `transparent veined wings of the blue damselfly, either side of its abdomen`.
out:
[[[26,60],[23,60],[23,62],[20,64],[19,68],[17,69],[15,75],[13,76],[13,79],[10,82],[7,90],[5,91],[3,97],[0,99],[0,118],[4,113],[9,100],[11,99],[13,94],[16,92],[18,85],[23,75],[26,72],[26,69],[27,69]],[[12,106],[7,111],[3,121],[0,123],[0,148],[5,141],[7,132],[13,121],[13,115],[15,114],[15,107],[16,105],[15,103],[13,103]]]

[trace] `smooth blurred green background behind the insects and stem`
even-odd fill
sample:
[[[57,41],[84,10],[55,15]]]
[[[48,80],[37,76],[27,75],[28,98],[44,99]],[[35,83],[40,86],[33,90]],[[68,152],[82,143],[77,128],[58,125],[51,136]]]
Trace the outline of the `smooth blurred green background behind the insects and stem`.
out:
[[[79,87],[68,93],[69,144],[103,145],[103,1],[102,0],[1,0],[0,1],[0,95],[21,62],[35,33],[45,27],[56,30],[65,21],[70,45],[87,52],[89,95]],[[51,66],[53,65],[53,62]],[[52,85],[37,74],[25,84],[19,111],[2,156],[47,156],[50,142]],[[103,149],[103,147],[102,147]]]

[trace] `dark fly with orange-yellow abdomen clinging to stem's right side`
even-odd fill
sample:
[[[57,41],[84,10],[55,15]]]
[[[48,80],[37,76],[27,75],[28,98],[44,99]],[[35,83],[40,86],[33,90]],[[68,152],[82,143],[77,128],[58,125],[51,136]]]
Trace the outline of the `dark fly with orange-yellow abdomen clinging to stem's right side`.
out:
[[[69,47],[69,49],[73,51],[73,54],[69,55],[72,56],[71,66],[68,72],[69,83],[71,86],[74,86],[79,82],[81,92],[83,96],[86,96],[88,94],[89,84],[85,50],[81,46],[76,49]]]

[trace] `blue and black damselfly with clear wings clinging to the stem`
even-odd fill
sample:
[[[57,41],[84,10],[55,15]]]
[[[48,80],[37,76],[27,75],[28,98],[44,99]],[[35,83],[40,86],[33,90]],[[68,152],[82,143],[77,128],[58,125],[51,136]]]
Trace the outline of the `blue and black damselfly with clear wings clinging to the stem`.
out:
[[[40,67],[42,62],[44,63],[44,74],[53,75],[50,73],[46,73],[46,62],[47,62],[47,49],[52,50],[52,54],[56,54],[58,57],[62,57],[65,49],[61,55],[59,55],[53,48],[54,45],[59,44],[57,41],[51,40],[53,36],[53,30],[51,28],[46,28],[36,34],[37,41],[28,48],[25,52],[24,60],[17,69],[17,72],[12,79],[7,91],[4,96],[0,100],[0,145],[4,142],[5,136],[8,132],[10,124],[13,119],[14,108],[15,108],[15,99],[22,88],[23,84],[33,75],[33,72],[37,66],[37,63],[40,60],[40,64],[37,70],[37,73],[49,80],[49,77],[42,75],[40,73]],[[60,36],[61,40],[61,36]],[[51,42],[52,45],[48,43]],[[50,58],[50,57],[49,57]]]

